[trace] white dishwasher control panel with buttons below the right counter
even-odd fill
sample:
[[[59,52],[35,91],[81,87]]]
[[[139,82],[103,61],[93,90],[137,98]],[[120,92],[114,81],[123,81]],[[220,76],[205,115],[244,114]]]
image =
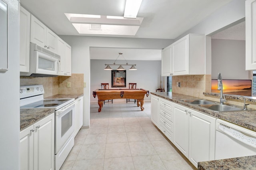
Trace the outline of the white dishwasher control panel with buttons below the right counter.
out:
[[[233,129],[223,124],[218,125],[218,131],[256,148],[256,136],[252,136],[250,134],[247,134],[246,132],[241,132],[240,130]]]

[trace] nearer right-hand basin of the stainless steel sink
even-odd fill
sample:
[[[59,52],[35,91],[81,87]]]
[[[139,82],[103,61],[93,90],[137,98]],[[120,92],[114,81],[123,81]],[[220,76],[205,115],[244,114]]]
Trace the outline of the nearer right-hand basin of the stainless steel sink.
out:
[[[199,106],[204,107],[206,109],[211,109],[211,110],[217,111],[217,112],[244,111],[244,109],[242,109],[242,108],[230,106],[230,105],[215,104],[215,105],[199,105]]]

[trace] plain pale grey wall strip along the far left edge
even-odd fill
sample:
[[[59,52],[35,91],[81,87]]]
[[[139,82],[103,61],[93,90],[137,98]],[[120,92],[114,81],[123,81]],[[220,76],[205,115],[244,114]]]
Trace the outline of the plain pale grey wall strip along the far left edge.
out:
[[[19,2],[8,3],[8,71],[0,72],[0,169],[20,169]],[[1,62],[1,61],[0,61]]]

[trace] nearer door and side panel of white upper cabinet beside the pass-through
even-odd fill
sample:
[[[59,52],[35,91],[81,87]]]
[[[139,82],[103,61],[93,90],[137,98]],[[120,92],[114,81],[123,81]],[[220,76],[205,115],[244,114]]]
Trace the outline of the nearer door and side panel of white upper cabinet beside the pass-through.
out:
[[[188,34],[172,44],[173,75],[204,74],[204,42],[204,35]]]

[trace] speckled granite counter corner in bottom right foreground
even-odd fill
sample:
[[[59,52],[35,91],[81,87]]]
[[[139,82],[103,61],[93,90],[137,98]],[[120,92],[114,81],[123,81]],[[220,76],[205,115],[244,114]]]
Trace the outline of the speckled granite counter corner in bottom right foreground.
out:
[[[256,156],[198,162],[198,170],[255,170]]]

